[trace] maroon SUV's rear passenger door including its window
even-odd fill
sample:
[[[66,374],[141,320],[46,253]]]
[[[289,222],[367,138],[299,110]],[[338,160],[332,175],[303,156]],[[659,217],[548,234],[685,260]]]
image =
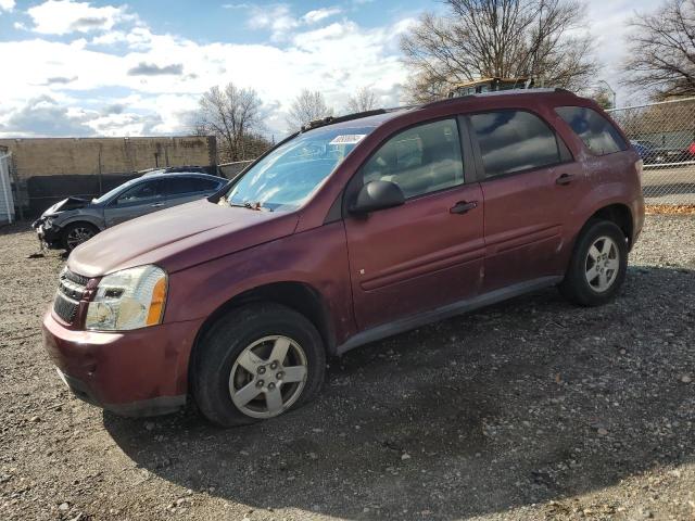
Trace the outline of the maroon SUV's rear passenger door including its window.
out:
[[[484,290],[563,275],[564,229],[585,180],[539,115],[501,110],[467,116],[485,202]]]

